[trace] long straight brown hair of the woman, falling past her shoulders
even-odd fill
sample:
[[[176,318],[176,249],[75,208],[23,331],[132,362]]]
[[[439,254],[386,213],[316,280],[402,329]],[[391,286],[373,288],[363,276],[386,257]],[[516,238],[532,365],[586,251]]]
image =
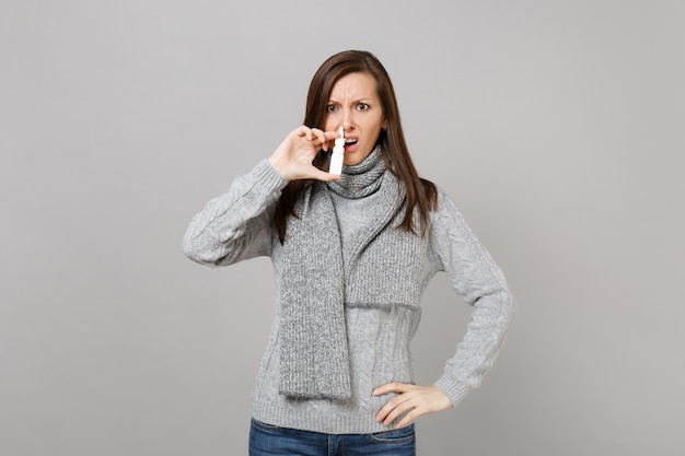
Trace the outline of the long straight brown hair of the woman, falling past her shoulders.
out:
[[[419,177],[411,162],[402,131],[399,109],[393,84],[387,71],[373,54],[365,50],[346,50],[324,61],[310,83],[303,124],[310,128],[323,127],[333,86],[340,78],[350,73],[368,73],[375,79],[376,93],[381,101],[386,125],[386,128],[381,130],[378,144],[381,145],[381,155],[385,165],[404,184],[407,195],[404,219],[397,227],[416,234],[417,226],[414,226],[413,213],[415,210],[418,211],[421,225],[425,227],[429,211],[433,210],[438,203],[438,190],[433,183]],[[312,163],[324,169],[327,161],[328,154],[322,151]],[[291,180],[281,191],[274,214],[281,244],[286,239],[288,217],[298,217],[294,210],[295,202],[302,191],[313,183],[312,179]],[[422,234],[423,231],[421,230]]]

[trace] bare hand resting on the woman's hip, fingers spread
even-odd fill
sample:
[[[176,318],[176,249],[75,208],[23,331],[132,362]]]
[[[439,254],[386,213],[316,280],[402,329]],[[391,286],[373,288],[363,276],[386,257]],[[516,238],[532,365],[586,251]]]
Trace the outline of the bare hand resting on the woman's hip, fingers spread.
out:
[[[376,421],[391,425],[402,413],[408,412],[395,429],[409,425],[421,414],[446,410],[452,407],[452,401],[437,386],[418,386],[406,383],[388,383],[379,386],[373,390],[374,396],[382,396],[388,393],[397,393],[397,396],[387,404],[375,416]]]

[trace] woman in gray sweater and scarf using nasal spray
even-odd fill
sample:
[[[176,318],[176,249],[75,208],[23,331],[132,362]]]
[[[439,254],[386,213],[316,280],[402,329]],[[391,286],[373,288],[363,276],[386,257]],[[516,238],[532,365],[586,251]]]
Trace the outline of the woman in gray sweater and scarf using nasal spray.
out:
[[[336,176],[327,171],[340,128]],[[414,455],[414,421],[480,383],[513,315],[500,269],[454,203],[419,178],[390,77],[365,51],[321,66],[303,126],[193,219],[184,252],[208,266],[274,264],[253,456]],[[443,375],[419,386],[409,341],[438,271],[474,311]]]

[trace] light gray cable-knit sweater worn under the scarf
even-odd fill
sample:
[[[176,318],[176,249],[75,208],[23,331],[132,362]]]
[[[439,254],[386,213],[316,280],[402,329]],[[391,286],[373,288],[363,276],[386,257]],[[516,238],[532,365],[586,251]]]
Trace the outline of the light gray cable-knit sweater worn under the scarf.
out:
[[[279,394],[279,312],[282,246],[272,222],[272,209],[287,182],[263,160],[237,177],[229,191],[195,215],[184,237],[184,253],[207,266],[228,266],[269,256],[276,280],[275,318],[253,396],[256,420],[314,432],[345,434],[386,430],[374,419],[390,396],[375,397],[375,387],[390,382],[411,383],[409,342],[420,320],[420,308],[406,306],[346,306],[352,398],[294,399]],[[368,221],[374,195],[360,199],[330,192],[341,242]],[[345,249],[344,249],[345,252]],[[480,381],[495,361],[513,317],[513,300],[504,278],[474,236],[453,202],[442,192],[422,238],[421,283],[444,271],[455,291],[474,306],[472,320],[454,356],[434,383],[456,405]],[[344,258],[346,261],[348,258]]]

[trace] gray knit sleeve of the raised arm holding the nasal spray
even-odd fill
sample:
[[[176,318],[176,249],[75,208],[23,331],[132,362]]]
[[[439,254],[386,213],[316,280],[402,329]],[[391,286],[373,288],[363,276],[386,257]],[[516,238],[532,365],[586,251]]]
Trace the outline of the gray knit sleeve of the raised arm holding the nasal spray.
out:
[[[287,183],[267,160],[257,163],[193,218],[183,253],[211,267],[269,255],[272,209]]]

